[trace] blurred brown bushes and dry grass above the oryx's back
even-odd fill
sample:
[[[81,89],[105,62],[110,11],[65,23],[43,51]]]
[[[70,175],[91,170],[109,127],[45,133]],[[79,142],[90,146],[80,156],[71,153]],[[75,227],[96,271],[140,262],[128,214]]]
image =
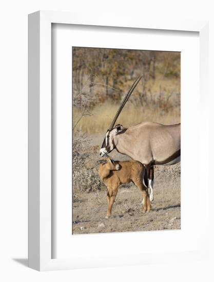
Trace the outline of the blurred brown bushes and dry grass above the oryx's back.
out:
[[[139,74],[116,123],[180,123],[180,52],[73,47],[72,57],[74,134],[106,132]]]

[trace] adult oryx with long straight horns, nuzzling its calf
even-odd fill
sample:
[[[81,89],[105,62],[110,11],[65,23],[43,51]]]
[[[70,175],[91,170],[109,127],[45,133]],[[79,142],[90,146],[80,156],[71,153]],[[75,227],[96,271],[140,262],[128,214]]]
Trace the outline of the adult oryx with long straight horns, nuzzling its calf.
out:
[[[141,76],[142,77],[142,76]],[[145,165],[150,188],[150,201],[153,200],[154,165],[174,165],[181,157],[181,124],[161,125],[157,123],[141,123],[129,128],[114,124],[125,106],[132,91],[139,83],[138,77],[116,112],[106,132],[100,155],[104,156],[116,149]]]

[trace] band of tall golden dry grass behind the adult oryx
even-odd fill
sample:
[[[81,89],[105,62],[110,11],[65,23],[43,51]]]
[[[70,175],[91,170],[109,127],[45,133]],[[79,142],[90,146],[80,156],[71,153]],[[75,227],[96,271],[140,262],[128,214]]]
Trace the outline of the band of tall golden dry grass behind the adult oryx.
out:
[[[91,115],[83,116],[79,124],[75,127],[74,133],[78,129],[82,129],[87,135],[94,133],[106,132],[108,126],[118,110],[119,105],[105,103],[92,109]],[[73,109],[73,124],[81,116],[81,111],[77,108]],[[177,124],[180,123],[180,107],[174,107],[167,112],[148,107],[126,105],[121,112],[116,124],[122,124],[124,127],[137,125],[143,122],[157,122],[161,124]]]

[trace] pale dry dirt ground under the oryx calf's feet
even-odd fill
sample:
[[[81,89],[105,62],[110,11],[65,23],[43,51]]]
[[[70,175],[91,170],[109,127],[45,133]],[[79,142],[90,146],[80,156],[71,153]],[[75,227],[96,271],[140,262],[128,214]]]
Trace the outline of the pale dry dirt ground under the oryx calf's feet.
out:
[[[142,212],[142,193],[133,184],[119,189],[109,219],[105,219],[105,187],[75,193],[72,233],[181,229],[180,164],[155,167],[154,173],[152,211],[146,214]]]

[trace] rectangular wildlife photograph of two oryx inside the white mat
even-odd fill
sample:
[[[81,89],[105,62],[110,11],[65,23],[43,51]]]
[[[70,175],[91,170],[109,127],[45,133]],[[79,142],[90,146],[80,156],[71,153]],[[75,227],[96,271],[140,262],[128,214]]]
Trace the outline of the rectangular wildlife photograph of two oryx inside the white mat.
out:
[[[181,229],[181,52],[72,47],[72,234]]]

